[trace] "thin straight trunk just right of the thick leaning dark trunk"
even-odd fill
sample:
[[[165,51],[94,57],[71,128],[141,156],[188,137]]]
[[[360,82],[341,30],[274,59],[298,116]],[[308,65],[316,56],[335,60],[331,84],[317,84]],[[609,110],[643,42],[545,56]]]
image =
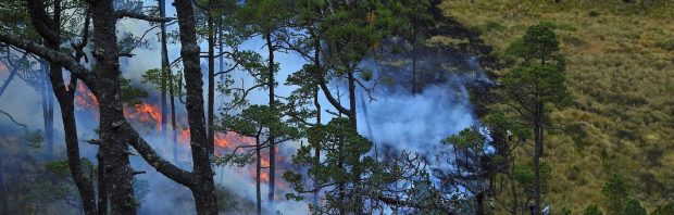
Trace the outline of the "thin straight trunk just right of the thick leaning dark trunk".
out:
[[[209,123],[207,124],[207,134],[209,135],[209,153],[213,154],[215,152],[215,134],[213,134],[213,108],[215,105],[215,33],[214,33],[214,24],[213,24],[213,15],[211,14],[213,10],[213,1],[209,1],[209,11],[208,15],[208,27],[209,27],[209,103],[208,103],[208,114],[209,114]]]

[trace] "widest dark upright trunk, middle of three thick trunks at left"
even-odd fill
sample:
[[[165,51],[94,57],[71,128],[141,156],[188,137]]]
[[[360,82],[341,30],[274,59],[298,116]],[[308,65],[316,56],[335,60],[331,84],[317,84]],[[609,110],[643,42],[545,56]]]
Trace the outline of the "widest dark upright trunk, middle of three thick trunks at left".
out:
[[[100,149],[104,156],[104,170],[112,214],[136,214],[133,170],[128,160],[128,138],[122,132],[124,118],[120,99],[120,63],[116,17],[112,1],[95,1],[90,4],[93,21],[93,58],[100,113]]]

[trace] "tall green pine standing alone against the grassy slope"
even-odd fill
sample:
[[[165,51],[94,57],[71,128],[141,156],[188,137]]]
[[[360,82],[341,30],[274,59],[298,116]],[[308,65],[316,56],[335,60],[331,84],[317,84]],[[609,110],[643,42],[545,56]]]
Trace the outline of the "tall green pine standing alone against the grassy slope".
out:
[[[509,47],[509,52],[522,61],[501,78],[504,97],[520,114],[520,119],[533,125],[534,130],[534,210],[540,211],[544,130],[548,127],[547,105],[562,108],[569,104],[565,86],[564,60],[559,53],[554,31],[545,25],[529,26],[521,40]]]

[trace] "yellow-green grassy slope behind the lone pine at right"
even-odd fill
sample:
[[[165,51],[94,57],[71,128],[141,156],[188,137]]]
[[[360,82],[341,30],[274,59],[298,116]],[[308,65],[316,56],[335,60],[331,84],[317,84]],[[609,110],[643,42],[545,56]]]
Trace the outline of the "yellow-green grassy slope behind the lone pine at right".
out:
[[[575,104],[552,113],[552,122],[566,129],[546,137],[545,160],[552,165],[546,202],[553,212],[565,206],[577,214],[590,202],[606,212],[601,187],[611,173],[626,176],[633,195],[649,211],[674,200],[674,1],[660,2],[446,0],[440,5],[480,31],[497,56],[528,25],[547,20],[558,26]]]

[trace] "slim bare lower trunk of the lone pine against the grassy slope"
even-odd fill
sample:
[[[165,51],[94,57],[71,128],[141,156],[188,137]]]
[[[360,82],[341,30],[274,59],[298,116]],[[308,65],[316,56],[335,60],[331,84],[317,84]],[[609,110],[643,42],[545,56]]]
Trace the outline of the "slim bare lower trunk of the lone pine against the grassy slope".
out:
[[[540,213],[541,203],[541,179],[540,179],[540,157],[542,156],[542,102],[536,104],[536,116],[534,124],[535,151],[534,151],[534,213]]]

